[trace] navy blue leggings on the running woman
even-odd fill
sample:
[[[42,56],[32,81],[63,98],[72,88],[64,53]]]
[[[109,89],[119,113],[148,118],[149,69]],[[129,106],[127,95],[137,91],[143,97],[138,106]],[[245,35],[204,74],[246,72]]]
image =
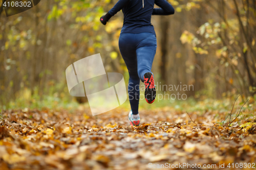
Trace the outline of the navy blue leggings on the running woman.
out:
[[[153,33],[122,33],[119,37],[119,50],[129,71],[128,95],[133,114],[138,114],[140,80],[151,72],[156,54],[157,39]]]

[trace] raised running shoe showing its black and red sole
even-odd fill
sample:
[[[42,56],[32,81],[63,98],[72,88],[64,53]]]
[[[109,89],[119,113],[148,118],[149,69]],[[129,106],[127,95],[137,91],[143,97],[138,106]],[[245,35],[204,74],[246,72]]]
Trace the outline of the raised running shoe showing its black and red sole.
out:
[[[156,86],[151,72],[146,72],[144,74],[144,84],[145,100],[147,103],[152,104],[156,99]]]

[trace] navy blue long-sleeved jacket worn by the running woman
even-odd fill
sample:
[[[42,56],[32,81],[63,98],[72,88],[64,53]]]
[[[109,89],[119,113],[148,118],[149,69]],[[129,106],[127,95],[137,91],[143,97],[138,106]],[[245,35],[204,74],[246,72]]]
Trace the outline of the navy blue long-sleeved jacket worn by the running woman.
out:
[[[161,8],[154,8],[154,4]],[[150,32],[156,35],[151,24],[151,15],[171,15],[174,8],[166,0],[119,0],[109,11],[115,15],[123,12],[123,27],[121,33]]]

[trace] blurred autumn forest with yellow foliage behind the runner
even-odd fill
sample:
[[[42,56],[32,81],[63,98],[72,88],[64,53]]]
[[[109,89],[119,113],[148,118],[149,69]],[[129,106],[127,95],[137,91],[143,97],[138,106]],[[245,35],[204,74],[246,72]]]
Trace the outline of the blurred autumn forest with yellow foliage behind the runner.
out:
[[[123,14],[117,13],[106,26],[99,21],[116,2],[41,0],[34,8],[10,17],[1,8],[0,106],[28,106],[46,98],[49,105],[69,104],[73,98],[66,68],[97,53],[106,72],[120,72],[127,82],[118,48]],[[256,1],[168,2],[175,8],[174,15],[152,16],[158,43],[152,70],[156,81],[194,85],[193,91],[185,93],[195,99],[220,99],[241,92],[253,96]]]

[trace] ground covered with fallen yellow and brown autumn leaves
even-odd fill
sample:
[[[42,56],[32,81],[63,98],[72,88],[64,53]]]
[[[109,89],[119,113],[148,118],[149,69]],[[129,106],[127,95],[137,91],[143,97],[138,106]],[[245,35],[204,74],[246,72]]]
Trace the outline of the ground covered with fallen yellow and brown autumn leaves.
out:
[[[0,169],[248,169],[256,162],[256,109],[242,111],[230,127],[229,117],[221,123],[230,111],[194,111],[190,119],[169,107],[142,110],[140,127],[120,108],[97,116],[89,109],[2,111]]]

